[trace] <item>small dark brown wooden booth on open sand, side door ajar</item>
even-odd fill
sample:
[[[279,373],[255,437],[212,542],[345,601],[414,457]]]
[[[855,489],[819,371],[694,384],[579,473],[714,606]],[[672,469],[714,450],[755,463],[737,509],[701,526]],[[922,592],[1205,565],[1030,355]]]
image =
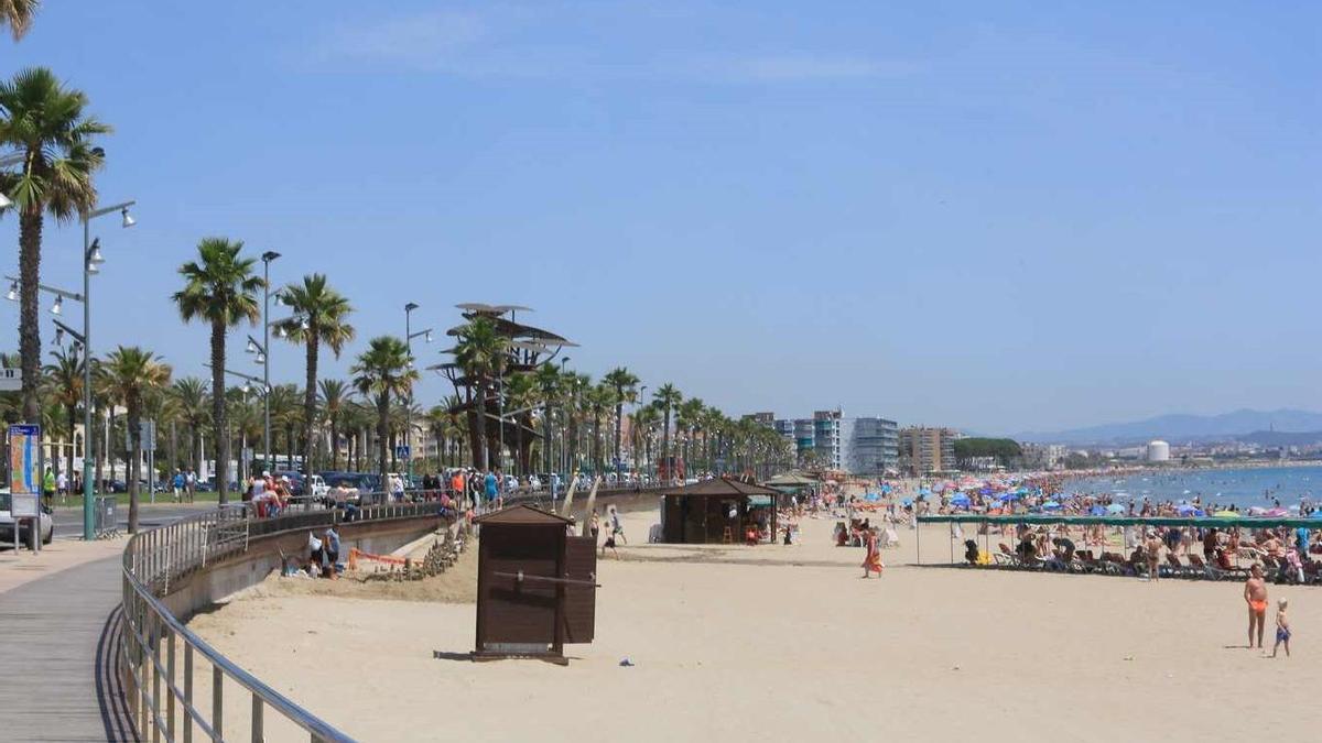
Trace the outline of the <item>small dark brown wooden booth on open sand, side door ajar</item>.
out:
[[[567,664],[564,645],[591,643],[596,623],[596,539],[572,537],[572,518],[516,505],[473,520],[477,646],[473,660]]]

